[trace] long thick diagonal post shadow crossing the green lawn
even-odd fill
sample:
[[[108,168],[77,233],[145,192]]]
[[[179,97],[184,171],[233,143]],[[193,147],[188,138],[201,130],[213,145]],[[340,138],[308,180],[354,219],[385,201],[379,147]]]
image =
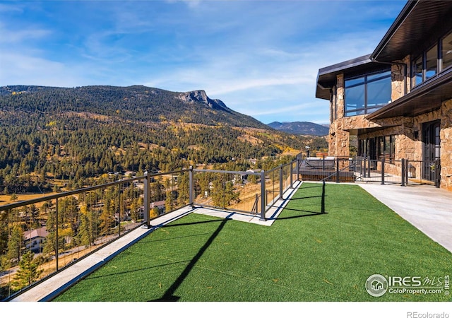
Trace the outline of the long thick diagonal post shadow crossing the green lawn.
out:
[[[218,225],[217,230],[215,230],[215,232],[213,232],[212,235],[210,235],[210,237],[208,238],[206,243],[203,245],[203,247],[201,247],[201,249],[199,249],[198,253],[196,253],[194,258],[191,259],[190,263],[185,267],[184,271],[182,271],[182,273],[179,275],[179,277],[176,279],[176,281],[174,281],[174,283],[172,283],[172,285],[169,286],[169,288],[165,291],[165,294],[163,294],[162,297],[159,299],[148,300],[149,302],[177,302],[180,299],[179,296],[174,295],[177,288],[179,288],[179,286],[184,282],[185,278],[187,276],[189,276],[191,269],[194,268],[194,266],[196,265],[196,262],[201,258],[201,256],[203,256],[204,252],[206,252],[208,247],[210,247],[213,240],[215,240],[215,237],[217,237],[218,234],[221,232],[221,230],[225,227],[225,224],[227,223],[228,220],[230,220],[230,219],[225,218],[223,220],[218,220],[218,221],[215,220],[214,221],[214,222],[221,221],[220,225]],[[210,222],[210,221],[208,221],[208,222]],[[198,222],[198,223],[205,223],[205,222]],[[186,225],[189,225],[189,224],[194,224],[194,223],[187,223]]]

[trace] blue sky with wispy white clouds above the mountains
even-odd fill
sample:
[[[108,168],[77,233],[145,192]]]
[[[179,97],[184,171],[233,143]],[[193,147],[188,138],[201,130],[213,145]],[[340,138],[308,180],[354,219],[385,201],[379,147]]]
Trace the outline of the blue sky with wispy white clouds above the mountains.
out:
[[[266,124],[328,124],[319,69],[373,52],[405,3],[0,1],[0,86],[201,89]]]

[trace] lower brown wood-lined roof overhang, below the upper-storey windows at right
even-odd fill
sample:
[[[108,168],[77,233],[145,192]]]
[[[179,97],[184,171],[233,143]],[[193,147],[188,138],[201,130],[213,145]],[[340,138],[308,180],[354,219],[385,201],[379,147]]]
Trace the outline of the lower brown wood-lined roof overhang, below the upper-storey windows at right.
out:
[[[422,86],[413,89],[407,95],[381,107],[367,115],[366,119],[383,119],[388,117],[414,117],[431,112],[441,107],[441,103],[452,98],[452,69],[441,76],[432,78]]]

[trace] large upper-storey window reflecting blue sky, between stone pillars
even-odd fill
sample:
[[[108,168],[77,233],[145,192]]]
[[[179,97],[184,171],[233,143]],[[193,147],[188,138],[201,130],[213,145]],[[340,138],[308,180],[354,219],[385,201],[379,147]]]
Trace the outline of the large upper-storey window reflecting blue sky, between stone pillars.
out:
[[[370,114],[391,102],[391,70],[345,80],[345,116]]]

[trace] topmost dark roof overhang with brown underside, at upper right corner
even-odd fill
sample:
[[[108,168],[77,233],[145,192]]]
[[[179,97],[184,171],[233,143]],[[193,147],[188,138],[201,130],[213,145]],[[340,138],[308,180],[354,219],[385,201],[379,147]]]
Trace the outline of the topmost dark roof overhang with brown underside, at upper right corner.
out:
[[[426,40],[437,39],[452,28],[451,16],[452,1],[408,1],[370,59],[391,62],[422,52],[434,44]]]

